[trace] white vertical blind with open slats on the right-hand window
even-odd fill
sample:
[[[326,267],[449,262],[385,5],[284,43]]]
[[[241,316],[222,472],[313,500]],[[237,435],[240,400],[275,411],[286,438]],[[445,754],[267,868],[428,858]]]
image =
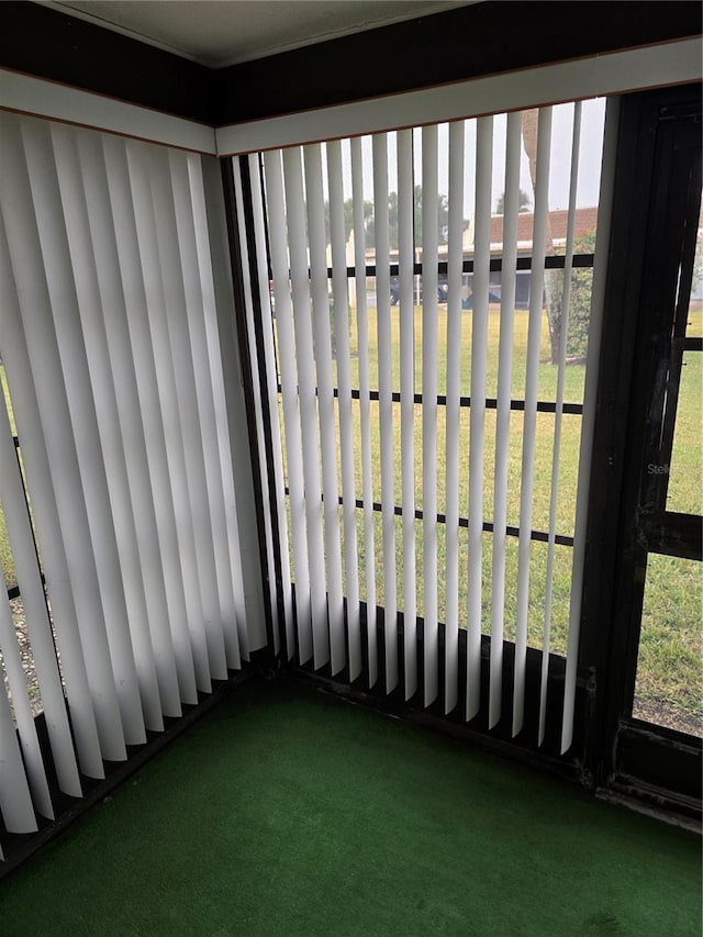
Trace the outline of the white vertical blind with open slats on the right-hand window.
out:
[[[593,248],[577,234],[595,235],[603,113],[542,108],[234,163],[255,180],[243,252],[259,270],[289,657],[467,721],[486,698],[488,727],[507,720],[513,736],[536,692],[539,744],[559,692],[562,750],[592,408],[569,312],[576,289],[592,362]],[[550,690],[567,647],[566,691]]]

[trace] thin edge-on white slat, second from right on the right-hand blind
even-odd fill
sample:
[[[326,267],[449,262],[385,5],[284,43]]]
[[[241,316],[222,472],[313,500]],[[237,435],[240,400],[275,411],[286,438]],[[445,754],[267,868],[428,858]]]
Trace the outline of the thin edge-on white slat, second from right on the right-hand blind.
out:
[[[579,148],[581,142],[581,102],[573,105],[571,134],[571,171],[569,178],[569,210],[567,215],[567,243],[565,249],[563,281],[561,292],[561,325],[559,334],[559,364],[557,371],[557,399],[554,423],[554,447],[551,457],[551,493],[549,498],[549,539],[547,542],[547,580],[545,614],[542,640],[542,676],[539,685],[538,744],[545,738],[547,721],[547,679],[549,677],[549,650],[551,632],[551,600],[554,592],[554,561],[557,534],[557,507],[559,494],[559,456],[561,453],[561,423],[563,416],[563,391],[566,381],[567,339],[569,334],[569,306],[571,302],[571,269],[573,266],[573,241],[576,227],[576,199],[579,183]]]

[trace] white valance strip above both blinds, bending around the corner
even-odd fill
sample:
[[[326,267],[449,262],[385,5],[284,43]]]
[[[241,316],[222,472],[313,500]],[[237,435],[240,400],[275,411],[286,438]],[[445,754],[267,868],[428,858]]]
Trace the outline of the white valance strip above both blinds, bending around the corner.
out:
[[[703,78],[702,63],[701,41],[680,40],[216,129],[3,68],[0,69],[0,110],[213,156],[233,156],[603,94],[684,85]]]

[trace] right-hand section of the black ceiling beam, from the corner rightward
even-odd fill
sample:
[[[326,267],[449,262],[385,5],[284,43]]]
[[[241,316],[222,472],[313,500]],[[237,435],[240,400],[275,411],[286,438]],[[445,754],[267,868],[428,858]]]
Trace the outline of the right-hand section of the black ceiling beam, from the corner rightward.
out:
[[[293,113],[702,32],[700,2],[488,2],[220,71],[221,124]]]

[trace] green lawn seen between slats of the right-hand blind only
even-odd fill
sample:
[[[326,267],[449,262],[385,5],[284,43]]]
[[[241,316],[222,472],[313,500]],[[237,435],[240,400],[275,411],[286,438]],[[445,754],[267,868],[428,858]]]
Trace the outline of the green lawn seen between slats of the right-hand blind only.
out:
[[[391,362],[392,362],[392,387],[394,391],[400,390],[400,312],[395,306],[391,312]],[[446,391],[447,371],[447,310],[439,306],[437,314],[438,331],[438,357],[437,357],[437,387],[438,393]],[[524,310],[517,310],[514,322],[514,350],[512,370],[512,397],[524,399],[525,397],[525,369],[527,355],[528,314]],[[416,391],[422,390],[422,310],[420,306],[414,311],[415,334],[415,386]],[[487,365],[487,397],[495,397],[498,390],[498,345],[500,335],[500,312],[492,306],[489,312],[489,352]],[[378,389],[379,358],[377,342],[377,312],[371,308],[368,311],[368,336],[369,336],[369,383],[371,389]],[[350,352],[352,352],[352,383],[358,387],[358,330],[355,310],[350,310]],[[557,368],[548,364],[549,336],[546,325],[546,316],[543,317],[540,334],[540,364],[538,370],[538,399],[543,401],[554,400],[556,397]],[[461,394],[470,395],[470,364],[471,364],[471,313],[464,312],[461,315]],[[382,365],[381,365],[382,366]],[[583,399],[584,368],[581,366],[568,367],[565,373],[565,400],[568,402],[581,402]],[[415,448],[415,504],[422,505],[422,406],[414,408],[414,448]],[[469,416],[468,408],[461,410],[460,414],[460,457],[459,457],[459,512],[468,514],[469,498]],[[493,472],[494,472],[494,434],[495,411],[487,411],[486,439],[483,455],[483,499],[484,520],[493,516]],[[356,457],[356,494],[361,498],[361,461],[360,456],[360,409],[358,401],[354,402],[355,421],[355,451]],[[401,408],[393,406],[393,455],[395,465],[395,503],[402,500],[402,476],[400,471],[402,437],[401,437]],[[566,415],[562,422],[562,437],[560,450],[559,469],[559,497],[557,502],[557,532],[567,536],[573,535],[573,509],[576,503],[576,482],[578,449],[580,440],[581,421],[579,416]],[[281,421],[282,425],[282,421]],[[533,497],[532,526],[536,529],[547,531],[549,526],[549,502],[551,497],[551,468],[554,455],[554,427],[555,416],[549,413],[539,413],[536,423],[536,450],[535,450],[535,481]],[[523,414],[514,411],[511,414],[510,455],[509,455],[509,486],[507,486],[507,524],[517,527],[520,525],[520,481],[522,470],[522,428]],[[381,501],[381,475],[380,475],[380,420],[379,404],[371,403],[371,453],[373,476],[373,501]],[[341,478],[341,464],[337,466]],[[439,406],[437,413],[437,510],[439,513],[446,511],[446,411]],[[360,579],[364,582],[365,564],[368,557],[368,548],[364,543],[362,517],[359,512],[357,540],[359,545]],[[383,604],[383,554],[381,544],[381,516],[375,517],[375,567],[377,601]],[[416,522],[416,567],[422,571],[422,523]],[[390,575],[395,576],[399,607],[404,607],[403,592],[403,550],[402,550],[402,520],[395,518],[395,558]],[[483,535],[483,624],[490,623],[491,616],[491,550],[492,536]],[[438,593],[439,593],[439,618],[444,621],[446,615],[446,594],[444,569],[446,564],[445,528],[439,527],[438,543]],[[459,532],[459,607],[462,610],[467,601],[467,580],[464,572],[468,565],[468,534],[466,528]],[[528,634],[531,643],[542,644],[544,628],[544,595],[546,588],[547,547],[546,544],[533,544],[531,560],[531,602],[528,616]],[[571,550],[569,547],[558,546],[555,555],[554,605],[551,623],[553,649],[557,652],[566,652],[568,609],[569,609],[569,583],[571,576]],[[517,539],[509,538],[506,546],[506,583],[505,583],[505,636],[510,639],[515,632],[516,614],[516,582],[517,582]],[[362,599],[366,599],[366,590],[361,589]],[[417,614],[424,614],[424,594],[422,577],[417,577],[416,585]],[[461,611],[460,611],[461,614]]]

